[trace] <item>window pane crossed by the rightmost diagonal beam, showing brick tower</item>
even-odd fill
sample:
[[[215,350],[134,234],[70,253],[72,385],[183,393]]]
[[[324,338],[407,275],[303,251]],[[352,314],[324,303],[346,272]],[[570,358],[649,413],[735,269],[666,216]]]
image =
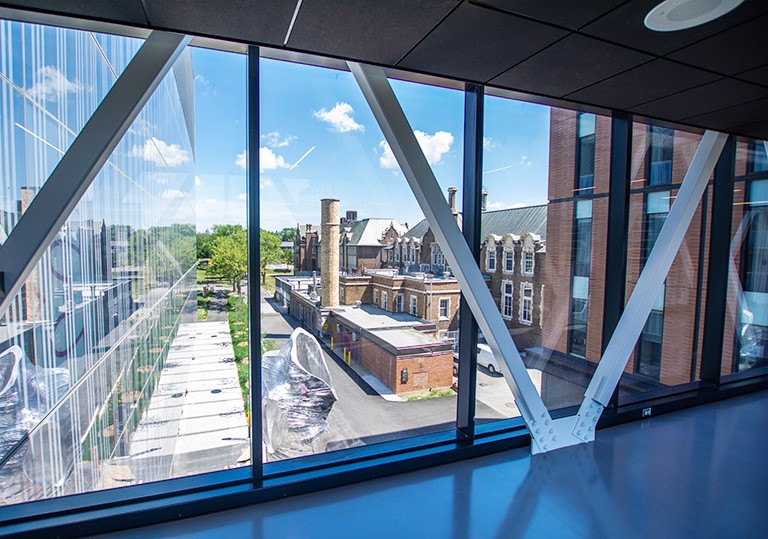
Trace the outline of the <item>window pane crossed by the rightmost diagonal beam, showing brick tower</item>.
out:
[[[625,302],[656,244],[699,140],[699,135],[685,131],[634,125]],[[620,399],[700,377],[711,196],[707,188],[654,301],[622,375]]]

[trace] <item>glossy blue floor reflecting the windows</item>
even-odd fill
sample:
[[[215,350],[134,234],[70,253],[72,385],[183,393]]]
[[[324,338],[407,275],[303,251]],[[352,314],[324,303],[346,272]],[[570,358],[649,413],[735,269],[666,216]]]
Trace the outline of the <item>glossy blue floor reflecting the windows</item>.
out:
[[[766,537],[768,392],[122,537]]]

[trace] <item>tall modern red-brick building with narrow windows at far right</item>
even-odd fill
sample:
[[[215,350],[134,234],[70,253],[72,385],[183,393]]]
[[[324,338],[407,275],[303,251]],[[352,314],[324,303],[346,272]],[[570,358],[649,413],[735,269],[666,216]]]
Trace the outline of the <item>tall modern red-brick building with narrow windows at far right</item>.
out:
[[[547,293],[543,302],[547,316],[542,326],[540,356],[547,360],[545,374],[565,366],[571,370],[569,381],[574,395],[583,392],[583,385],[601,357],[610,138],[608,117],[551,110],[544,262]],[[626,299],[666,220],[699,140],[699,135],[689,132],[634,124]],[[762,307],[768,304],[763,302],[763,298],[768,298],[768,279],[752,278],[745,282],[755,271],[765,273],[757,261],[761,256],[765,258],[762,251],[749,252],[749,234],[755,237],[768,229],[761,205],[768,200],[768,196],[763,196],[763,192],[768,193],[768,165],[761,157],[764,151],[759,150],[763,148],[750,141],[740,140],[737,145],[730,316],[726,321],[723,373],[738,370],[740,364],[750,361],[742,357],[751,353],[743,352],[745,346],[752,352],[757,352],[756,346],[764,350],[764,344],[755,343],[766,343],[768,337],[763,329],[768,327],[768,309]],[[623,394],[700,378],[706,302],[703,283],[709,262],[711,207],[710,184],[627,364],[620,386]],[[744,208],[751,208],[746,219]],[[747,232],[750,224],[751,232]],[[751,270],[742,270],[745,260],[753,261]],[[748,293],[742,292],[742,283],[745,290],[754,289],[749,292],[751,303],[746,299]],[[744,313],[745,309],[749,314]],[[747,317],[749,324],[744,322]],[[746,340],[739,336],[744,332],[751,332]],[[546,378],[542,385],[544,393]],[[562,383],[559,390],[563,390]],[[561,393],[555,400],[565,404],[568,398]]]

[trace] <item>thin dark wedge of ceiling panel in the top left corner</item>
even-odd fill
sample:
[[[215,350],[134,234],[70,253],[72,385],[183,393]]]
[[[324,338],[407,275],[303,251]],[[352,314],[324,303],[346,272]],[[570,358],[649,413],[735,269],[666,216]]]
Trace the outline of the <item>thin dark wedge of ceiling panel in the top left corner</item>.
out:
[[[147,24],[141,0],[3,0],[3,4],[90,19]]]

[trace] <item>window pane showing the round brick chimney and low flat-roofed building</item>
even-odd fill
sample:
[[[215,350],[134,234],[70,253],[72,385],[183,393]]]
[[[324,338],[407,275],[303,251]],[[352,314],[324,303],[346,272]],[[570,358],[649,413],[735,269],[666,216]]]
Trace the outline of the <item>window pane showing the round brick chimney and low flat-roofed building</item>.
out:
[[[261,226],[296,231],[282,292],[265,290],[267,461],[452,429],[458,283],[354,78],[268,59],[261,70]],[[392,87],[460,224],[463,93]],[[329,374],[311,402],[276,363],[294,328]]]

